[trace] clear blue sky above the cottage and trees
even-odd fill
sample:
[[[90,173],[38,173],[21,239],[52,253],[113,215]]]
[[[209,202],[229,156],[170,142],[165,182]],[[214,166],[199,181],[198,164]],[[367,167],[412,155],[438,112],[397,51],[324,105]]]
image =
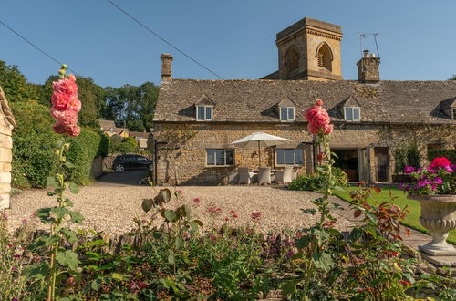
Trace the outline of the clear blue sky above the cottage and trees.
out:
[[[309,16],[342,26],[342,71],[357,78],[358,32],[378,32],[380,77],[443,80],[456,73],[456,1],[113,0],[223,78],[277,69],[275,34]],[[0,0],[0,20],[78,74],[105,87],[160,83],[160,54],[174,78],[216,79],[106,0]],[[0,59],[43,83],[58,65],[0,25]],[[365,46],[374,49],[373,39]]]

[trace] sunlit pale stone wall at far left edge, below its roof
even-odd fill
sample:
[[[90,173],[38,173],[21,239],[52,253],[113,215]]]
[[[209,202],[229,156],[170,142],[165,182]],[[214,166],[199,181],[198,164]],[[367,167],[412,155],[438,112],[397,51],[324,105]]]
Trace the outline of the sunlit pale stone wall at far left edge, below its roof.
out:
[[[12,126],[7,124],[0,107],[0,209],[9,208],[11,190]]]

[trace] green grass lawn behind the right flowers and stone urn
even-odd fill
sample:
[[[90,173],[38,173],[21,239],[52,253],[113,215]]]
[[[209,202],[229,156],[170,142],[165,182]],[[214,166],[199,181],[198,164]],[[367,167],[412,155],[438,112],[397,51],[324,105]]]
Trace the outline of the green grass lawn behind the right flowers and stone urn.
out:
[[[350,198],[350,192],[356,190],[357,187],[346,187],[344,192],[338,192],[334,191],[334,194],[341,198],[342,200],[345,200],[347,202],[351,201]],[[417,201],[409,200],[404,192],[399,191],[398,188],[396,187],[382,187],[380,194],[377,195],[377,193],[373,193],[372,197],[368,200],[369,203],[371,204],[379,204],[381,202],[386,202],[389,201],[389,192],[392,193],[393,197],[396,197],[394,199],[393,203],[397,204],[400,208],[404,208],[405,206],[408,206],[407,209],[409,210],[408,215],[406,218],[402,221],[402,224],[419,230],[421,232],[424,232],[426,234],[429,234],[429,231],[426,230],[423,226],[420,224],[420,203]],[[452,230],[450,234],[448,235],[448,240],[449,243],[451,244],[456,244],[456,230]]]

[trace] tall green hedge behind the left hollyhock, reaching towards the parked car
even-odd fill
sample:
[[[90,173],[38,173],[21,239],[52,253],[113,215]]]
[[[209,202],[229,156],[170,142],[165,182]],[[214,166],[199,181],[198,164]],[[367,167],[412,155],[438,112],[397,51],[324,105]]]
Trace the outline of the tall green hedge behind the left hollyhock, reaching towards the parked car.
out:
[[[35,101],[11,103],[17,127],[13,132],[12,185],[21,188],[44,188],[47,177],[57,169],[57,141],[61,139],[52,130],[54,121],[49,108]],[[71,143],[67,160],[75,164],[69,171],[69,179],[78,184],[87,184],[90,166],[94,158],[106,156],[109,139],[93,130],[83,129]]]

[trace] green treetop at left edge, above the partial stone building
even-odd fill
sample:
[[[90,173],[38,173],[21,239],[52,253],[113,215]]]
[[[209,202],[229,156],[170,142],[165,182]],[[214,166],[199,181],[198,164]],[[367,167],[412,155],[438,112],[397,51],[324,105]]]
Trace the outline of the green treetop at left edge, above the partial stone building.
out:
[[[3,60],[0,60],[0,86],[10,102],[24,102],[29,99],[26,77],[17,66],[8,66]]]

